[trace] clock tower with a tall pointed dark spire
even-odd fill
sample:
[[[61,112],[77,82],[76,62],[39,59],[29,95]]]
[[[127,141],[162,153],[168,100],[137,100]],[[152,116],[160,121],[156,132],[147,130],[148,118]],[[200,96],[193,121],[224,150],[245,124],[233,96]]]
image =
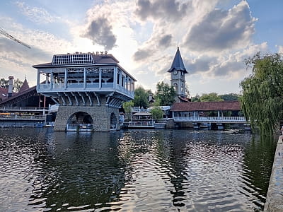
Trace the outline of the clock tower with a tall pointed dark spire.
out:
[[[185,69],[179,47],[175,54],[171,69],[169,69],[168,72],[171,73],[171,86],[173,86],[176,91],[175,102],[181,102],[180,98],[187,97],[185,93],[185,74],[188,72]]]

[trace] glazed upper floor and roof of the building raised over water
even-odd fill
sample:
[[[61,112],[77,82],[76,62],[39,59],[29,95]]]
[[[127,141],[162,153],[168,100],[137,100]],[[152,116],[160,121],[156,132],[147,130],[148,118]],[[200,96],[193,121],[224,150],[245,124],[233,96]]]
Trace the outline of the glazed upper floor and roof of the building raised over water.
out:
[[[54,55],[51,63],[33,66],[37,69],[37,92],[52,97],[68,92],[117,93],[131,100],[136,80],[118,63],[107,52]]]

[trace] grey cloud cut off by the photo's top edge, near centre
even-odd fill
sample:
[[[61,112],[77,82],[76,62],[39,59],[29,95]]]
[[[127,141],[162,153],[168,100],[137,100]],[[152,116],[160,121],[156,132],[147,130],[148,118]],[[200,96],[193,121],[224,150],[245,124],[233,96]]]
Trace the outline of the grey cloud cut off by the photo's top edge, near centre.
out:
[[[176,0],[138,0],[135,13],[141,20],[146,20],[146,18],[178,20],[185,16],[190,4],[190,2],[180,3]]]

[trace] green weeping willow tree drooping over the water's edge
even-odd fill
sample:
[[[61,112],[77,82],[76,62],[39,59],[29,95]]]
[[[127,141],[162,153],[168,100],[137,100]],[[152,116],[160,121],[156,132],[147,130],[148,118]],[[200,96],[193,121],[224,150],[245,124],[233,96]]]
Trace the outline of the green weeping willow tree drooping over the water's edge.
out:
[[[252,129],[259,126],[261,134],[272,134],[283,117],[282,55],[258,52],[246,59],[246,66],[252,67],[252,73],[241,81],[242,110]]]

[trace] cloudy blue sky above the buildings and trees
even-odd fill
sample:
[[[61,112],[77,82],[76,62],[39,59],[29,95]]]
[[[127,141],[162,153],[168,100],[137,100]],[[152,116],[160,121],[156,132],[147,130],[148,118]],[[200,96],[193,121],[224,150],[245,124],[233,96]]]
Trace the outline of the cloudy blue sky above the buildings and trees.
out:
[[[170,84],[177,47],[191,96],[241,93],[244,60],[283,53],[282,0],[0,1],[0,78],[36,84],[32,66],[54,54],[108,51],[136,87]]]

